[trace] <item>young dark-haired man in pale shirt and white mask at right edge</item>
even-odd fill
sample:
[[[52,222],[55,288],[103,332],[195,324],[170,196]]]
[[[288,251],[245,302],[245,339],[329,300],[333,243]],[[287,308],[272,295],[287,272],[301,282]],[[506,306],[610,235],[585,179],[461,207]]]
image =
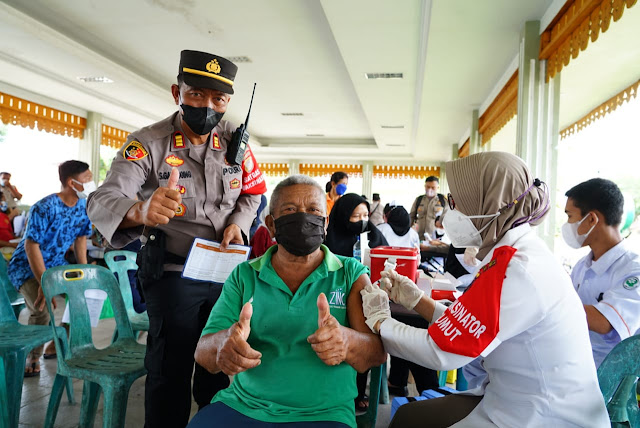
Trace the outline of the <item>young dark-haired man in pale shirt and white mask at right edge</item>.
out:
[[[562,237],[591,252],[575,265],[571,280],[587,315],[596,367],[621,340],[640,328],[640,255],[620,235],[624,197],[612,181],[594,178],[566,194]]]

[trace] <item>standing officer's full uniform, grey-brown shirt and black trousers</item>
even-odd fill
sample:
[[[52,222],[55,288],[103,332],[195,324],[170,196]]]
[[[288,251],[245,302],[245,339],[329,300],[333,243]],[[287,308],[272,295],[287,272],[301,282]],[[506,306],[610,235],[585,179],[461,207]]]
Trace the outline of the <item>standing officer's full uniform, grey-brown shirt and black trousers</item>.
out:
[[[166,187],[176,167],[182,202],[176,216],[159,226],[166,234],[167,251],[185,257],[195,237],[220,241],[231,223],[249,236],[260,195],[241,194],[242,189],[262,190],[264,178],[259,168],[254,171],[255,160],[248,147],[242,166],[225,162],[234,129],[221,120],[207,144],[194,146],[182,130],[179,113],[174,113],[132,133],[113,160],[104,184],[90,195],[89,218],[114,247],[134,241],[144,227],[118,230],[118,225],[135,198],[148,200],[158,187]],[[179,262],[176,257],[172,261]],[[211,374],[198,364],[194,369],[193,357],[222,284],[182,278],[181,270],[182,264],[165,264],[159,280],[143,284],[149,315],[145,356],[145,426],[149,428],[184,427],[191,391],[198,406],[204,407],[229,386],[222,372]]]

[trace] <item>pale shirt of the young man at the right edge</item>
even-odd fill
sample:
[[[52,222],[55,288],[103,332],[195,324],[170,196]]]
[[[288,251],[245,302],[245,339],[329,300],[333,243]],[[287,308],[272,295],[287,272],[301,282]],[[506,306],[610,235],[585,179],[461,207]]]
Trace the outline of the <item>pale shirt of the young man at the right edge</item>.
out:
[[[593,261],[593,252],[571,272],[573,285],[585,305],[593,305],[613,329],[607,334],[589,331],[596,366],[621,340],[640,329],[640,255],[624,241]]]

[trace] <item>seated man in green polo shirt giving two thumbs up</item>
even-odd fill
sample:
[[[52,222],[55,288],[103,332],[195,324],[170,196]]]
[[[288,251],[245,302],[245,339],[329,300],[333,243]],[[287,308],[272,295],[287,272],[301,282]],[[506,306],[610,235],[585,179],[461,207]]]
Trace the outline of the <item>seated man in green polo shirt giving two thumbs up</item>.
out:
[[[231,273],[195,353],[233,383],[189,427],[355,427],[356,371],[387,358],[362,312],[368,269],[322,245],[326,199],[313,179],[280,182],[269,212],[278,245]]]

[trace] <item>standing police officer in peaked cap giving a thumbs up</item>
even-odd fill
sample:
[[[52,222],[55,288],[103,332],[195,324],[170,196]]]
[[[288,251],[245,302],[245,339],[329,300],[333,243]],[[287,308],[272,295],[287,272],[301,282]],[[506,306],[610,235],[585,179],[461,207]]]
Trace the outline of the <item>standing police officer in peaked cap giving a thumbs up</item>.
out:
[[[225,58],[182,51],[178,82],[171,86],[178,111],[133,132],[88,201],[89,217],[113,247],[145,234],[148,249],[160,248],[139,260],[145,278],[152,278],[143,283],[150,323],[146,427],[187,424],[193,354],[222,290],[221,284],[181,277],[194,238],[221,241],[223,248],[243,243],[266,190],[248,147],[241,165],[225,159],[235,128],[221,119],[236,71]],[[228,385],[226,375],[196,364],[193,396],[199,407]]]

